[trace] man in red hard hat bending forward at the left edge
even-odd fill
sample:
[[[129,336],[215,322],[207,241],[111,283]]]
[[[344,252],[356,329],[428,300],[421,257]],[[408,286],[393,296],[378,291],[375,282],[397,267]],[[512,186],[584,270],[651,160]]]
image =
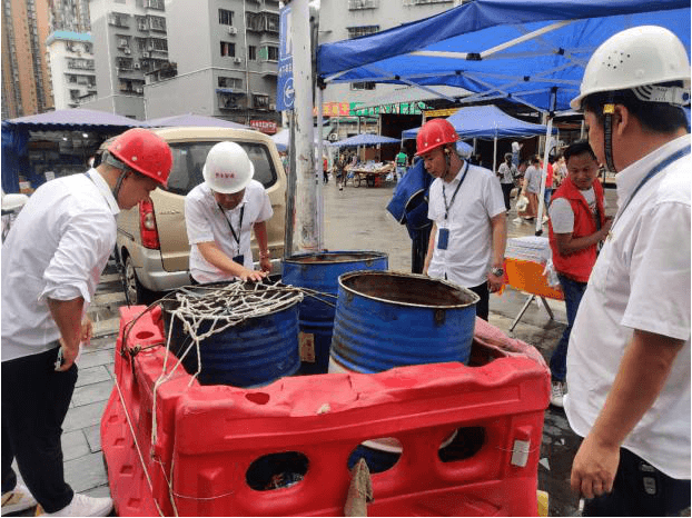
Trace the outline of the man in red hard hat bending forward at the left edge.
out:
[[[166,186],[171,163],[164,140],[128,130],[98,168],[39,187],[2,245],[2,515],[37,500],[46,516],[112,508],[110,498],[75,494],[65,482],[61,426],[75,359],[91,336],[86,310],[116,245],[116,215]]]

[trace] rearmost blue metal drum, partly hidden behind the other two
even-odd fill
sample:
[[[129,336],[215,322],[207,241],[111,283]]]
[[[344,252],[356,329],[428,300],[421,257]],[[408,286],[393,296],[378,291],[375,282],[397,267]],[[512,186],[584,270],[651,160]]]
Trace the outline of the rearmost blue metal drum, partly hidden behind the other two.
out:
[[[354,270],[386,270],[387,255],[376,251],[300,253],[284,259],[281,282],[336,296],[340,275]],[[336,305],[336,298],[322,297]],[[335,307],[305,296],[298,308],[300,373],[326,373],[334,328]]]

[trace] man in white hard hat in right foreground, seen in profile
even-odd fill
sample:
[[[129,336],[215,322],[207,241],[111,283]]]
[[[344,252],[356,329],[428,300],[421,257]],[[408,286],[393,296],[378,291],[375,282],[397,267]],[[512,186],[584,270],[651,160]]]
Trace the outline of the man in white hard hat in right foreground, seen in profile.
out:
[[[584,516],[690,507],[690,58],[661,27],[607,39],[572,108],[616,173],[617,213],[567,349]],[[689,512],[689,511],[688,511]]]

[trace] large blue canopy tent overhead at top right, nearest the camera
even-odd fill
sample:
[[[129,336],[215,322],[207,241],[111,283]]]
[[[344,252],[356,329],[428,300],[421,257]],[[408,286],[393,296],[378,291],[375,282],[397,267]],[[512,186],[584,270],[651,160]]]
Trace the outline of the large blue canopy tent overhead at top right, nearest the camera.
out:
[[[593,51],[616,32],[645,24],[670,29],[689,53],[689,0],[471,0],[412,23],[322,44],[317,74],[327,86],[418,86],[459,106],[507,99],[547,114],[552,128],[555,111],[567,110],[577,96]],[[435,91],[441,84],[475,93],[454,99]],[[542,210],[543,196],[540,202]]]

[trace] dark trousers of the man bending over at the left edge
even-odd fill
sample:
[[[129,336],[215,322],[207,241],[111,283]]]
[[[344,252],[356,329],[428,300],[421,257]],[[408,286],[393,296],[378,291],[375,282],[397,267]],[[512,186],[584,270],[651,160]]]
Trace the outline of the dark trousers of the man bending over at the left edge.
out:
[[[2,492],[14,489],[12,460],[46,512],[72,501],[62,469],[62,421],[77,382],[77,366],[56,372],[58,347],[2,362]]]

